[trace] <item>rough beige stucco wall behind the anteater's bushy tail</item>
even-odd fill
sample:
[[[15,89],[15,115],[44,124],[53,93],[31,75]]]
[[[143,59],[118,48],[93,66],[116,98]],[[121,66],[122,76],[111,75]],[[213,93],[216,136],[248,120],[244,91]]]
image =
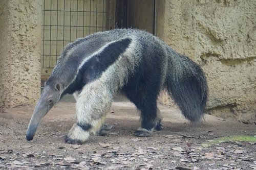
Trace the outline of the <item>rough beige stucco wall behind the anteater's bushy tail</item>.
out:
[[[208,113],[256,124],[256,1],[163,4],[158,36],[202,66]]]

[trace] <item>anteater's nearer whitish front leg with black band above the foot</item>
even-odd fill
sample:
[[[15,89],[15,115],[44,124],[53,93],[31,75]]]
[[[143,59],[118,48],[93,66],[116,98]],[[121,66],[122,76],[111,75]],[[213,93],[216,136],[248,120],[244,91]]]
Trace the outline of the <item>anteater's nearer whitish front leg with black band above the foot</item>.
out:
[[[77,96],[76,123],[65,137],[68,143],[83,143],[96,133],[110,111],[112,94],[104,86],[89,84]]]

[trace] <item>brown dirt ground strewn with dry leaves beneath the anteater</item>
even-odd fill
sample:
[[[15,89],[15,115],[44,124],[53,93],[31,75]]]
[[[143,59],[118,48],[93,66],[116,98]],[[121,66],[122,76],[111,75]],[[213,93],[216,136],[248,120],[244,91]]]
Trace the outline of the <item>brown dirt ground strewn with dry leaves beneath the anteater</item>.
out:
[[[192,125],[177,108],[159,105],[164,129],[139,138],[133,136],[140,125],[135,106],[116,101],[106,119],[113,125],[109,134],[92,135],[81,145],[63,139],[74,123],[75,103],[69,97],[47,114],[32,141],[26,140],[26,130],[34,106],[5,110],[0,114],[0,169],[256,169],[255,141],[217,141],[255,137],[255,125],[211,115]]]

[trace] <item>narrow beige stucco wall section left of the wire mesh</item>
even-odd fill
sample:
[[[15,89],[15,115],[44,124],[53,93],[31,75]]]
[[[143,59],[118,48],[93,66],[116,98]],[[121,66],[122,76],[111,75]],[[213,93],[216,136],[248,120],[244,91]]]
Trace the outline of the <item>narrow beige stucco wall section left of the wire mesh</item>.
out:
[[[41,1],[0,1],[0,111],[40,94]]]

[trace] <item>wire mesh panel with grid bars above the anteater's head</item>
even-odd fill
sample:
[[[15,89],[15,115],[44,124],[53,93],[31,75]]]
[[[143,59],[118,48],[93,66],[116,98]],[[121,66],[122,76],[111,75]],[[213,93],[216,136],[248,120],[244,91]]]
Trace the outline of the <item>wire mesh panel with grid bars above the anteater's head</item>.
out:
[[[63,47],[108,28],[107,0],[42,0],[41,75],[48,77]]]

